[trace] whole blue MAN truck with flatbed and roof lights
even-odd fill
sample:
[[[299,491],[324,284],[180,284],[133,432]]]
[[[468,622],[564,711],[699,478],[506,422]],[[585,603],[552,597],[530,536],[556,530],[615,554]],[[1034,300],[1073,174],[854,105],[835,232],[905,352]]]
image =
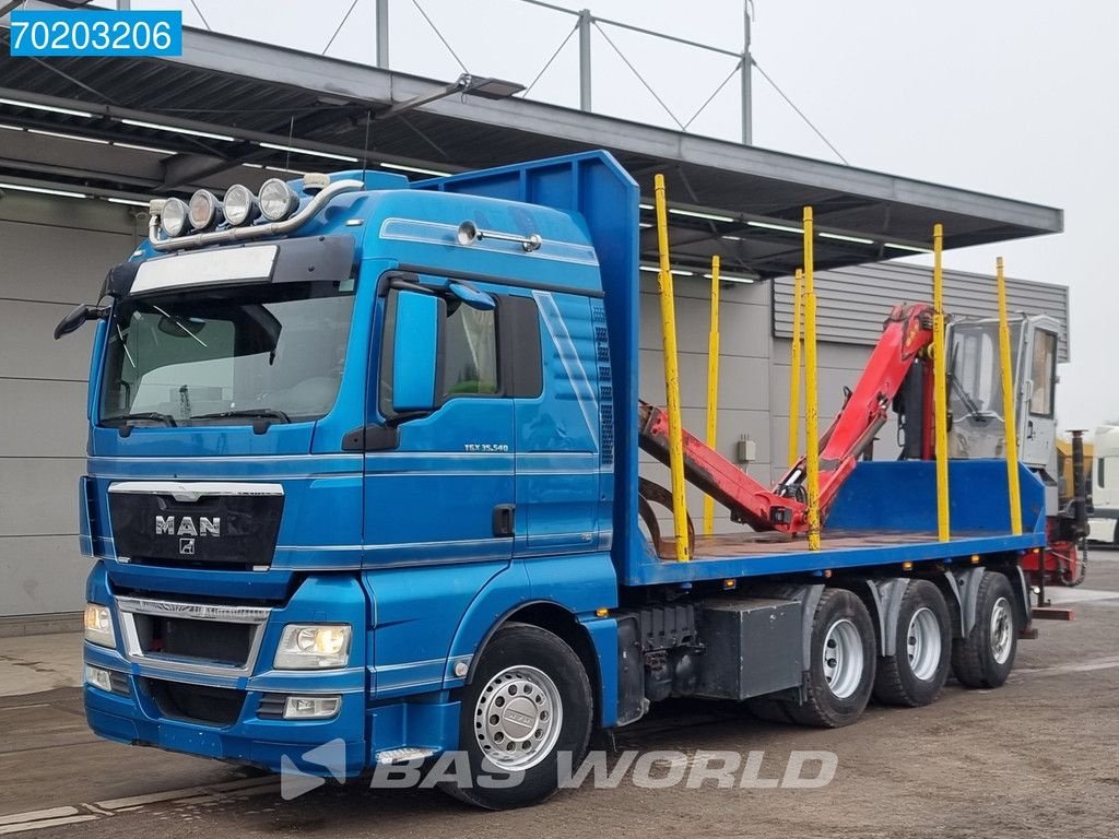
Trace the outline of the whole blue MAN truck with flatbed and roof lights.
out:
[[[96,328],[93,730],[278,772],[326,774],[327,743],[348,776],[461,754],[444,786],[501,809],[670,696],[841,726],[949,670],[999,686],[1045,541],[1026,469],[1018,536],[1003,461],[951,462],[949,541],[930,461],[853,461],[821,550],[782,530],[787,481],[752,529],[662,556],[638,213],[605,152],[153,201],[56,330]]]

